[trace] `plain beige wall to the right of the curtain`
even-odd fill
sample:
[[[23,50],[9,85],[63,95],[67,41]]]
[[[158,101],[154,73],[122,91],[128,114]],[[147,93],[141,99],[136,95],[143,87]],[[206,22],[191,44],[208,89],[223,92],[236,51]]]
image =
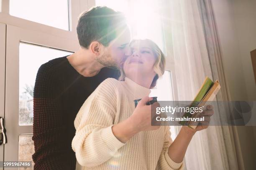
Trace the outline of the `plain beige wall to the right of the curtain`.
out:
[[[212,0],[231,100],[256,100],[250,51],[256,48],[256,0]],[[238,127],[245,170],[256,169],[256,127]]]

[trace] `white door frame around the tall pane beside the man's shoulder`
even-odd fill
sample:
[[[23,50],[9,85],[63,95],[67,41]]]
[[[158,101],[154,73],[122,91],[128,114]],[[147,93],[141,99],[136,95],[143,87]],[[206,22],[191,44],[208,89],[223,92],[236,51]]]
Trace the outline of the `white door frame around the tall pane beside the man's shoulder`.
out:
[[[6,27],[6,83],[5,83],[5,127],[8,143],[5,145],[4,160],[18,161],[19,135],[33,134],[33,125],[19,125],[19,45],[20,42],[74,52],[77,40],[44,32]],[[11,132],[11,133],[10,133]]]

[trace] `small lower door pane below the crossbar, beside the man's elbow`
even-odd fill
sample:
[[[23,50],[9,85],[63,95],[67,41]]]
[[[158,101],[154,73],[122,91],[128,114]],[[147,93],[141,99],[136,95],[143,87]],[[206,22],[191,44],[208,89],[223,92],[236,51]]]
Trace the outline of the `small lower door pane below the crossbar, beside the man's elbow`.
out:
[[[19,168],[19,170],[33,170],[32,155],[35,153],[33,135],[19,135],[19,161],[32,161],[32,168]]]

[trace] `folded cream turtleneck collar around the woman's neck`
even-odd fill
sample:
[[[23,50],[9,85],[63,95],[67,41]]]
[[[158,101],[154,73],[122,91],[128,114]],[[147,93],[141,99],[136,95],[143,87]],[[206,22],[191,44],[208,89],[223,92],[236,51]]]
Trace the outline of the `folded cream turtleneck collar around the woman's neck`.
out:
[[[136,82],[129,79],[128,77],[125,77],[124,82],[129,88],[129,90],[131,91],[131,93],[133,94],[133,96],[135,97],[134,100],[141,99],[142,97],[148,96],[151,92],[150,89],[137,84]]]

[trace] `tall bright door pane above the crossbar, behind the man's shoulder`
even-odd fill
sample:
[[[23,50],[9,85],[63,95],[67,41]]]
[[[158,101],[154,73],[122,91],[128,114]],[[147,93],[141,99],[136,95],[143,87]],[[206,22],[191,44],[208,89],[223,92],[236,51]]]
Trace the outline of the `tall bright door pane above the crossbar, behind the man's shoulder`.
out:
[[[33,90],[39,67],[72,52],[20,43],[19,51],[19,125],[33,124]]]

